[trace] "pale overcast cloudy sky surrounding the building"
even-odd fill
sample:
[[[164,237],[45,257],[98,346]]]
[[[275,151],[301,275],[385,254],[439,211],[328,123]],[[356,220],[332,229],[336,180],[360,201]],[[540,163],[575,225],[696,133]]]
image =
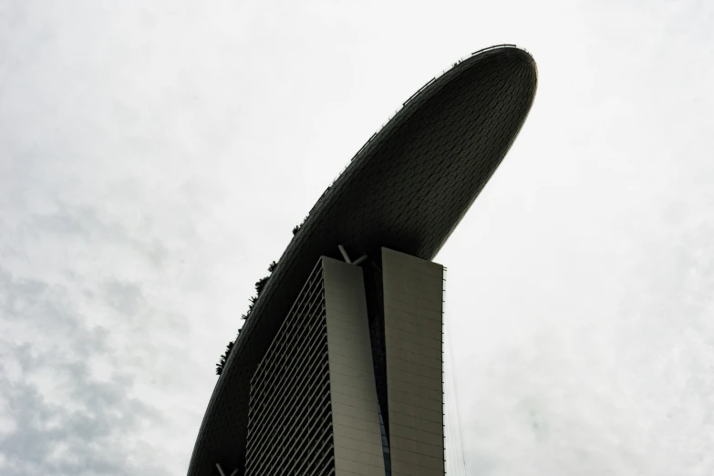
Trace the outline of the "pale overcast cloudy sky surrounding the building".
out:
[[[468,473],[714,473],[712,25],[709,1],[0,0],[0,473],[184,474],[293,226],[500,43],[535,104],[436,260]]]

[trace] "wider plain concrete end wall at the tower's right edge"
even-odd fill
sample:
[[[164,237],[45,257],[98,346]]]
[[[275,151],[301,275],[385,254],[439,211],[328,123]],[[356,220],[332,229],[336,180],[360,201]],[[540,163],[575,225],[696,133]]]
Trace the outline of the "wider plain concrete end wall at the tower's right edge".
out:
[[[443,266],[382,248],[392,476],[443,476]]]

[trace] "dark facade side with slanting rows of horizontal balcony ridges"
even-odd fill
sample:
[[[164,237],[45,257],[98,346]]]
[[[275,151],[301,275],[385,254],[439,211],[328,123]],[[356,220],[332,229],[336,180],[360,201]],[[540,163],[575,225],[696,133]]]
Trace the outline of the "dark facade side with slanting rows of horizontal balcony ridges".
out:
[[[251,379],[246,476],[323,476],[335,466],[325,277],[320,260]]]

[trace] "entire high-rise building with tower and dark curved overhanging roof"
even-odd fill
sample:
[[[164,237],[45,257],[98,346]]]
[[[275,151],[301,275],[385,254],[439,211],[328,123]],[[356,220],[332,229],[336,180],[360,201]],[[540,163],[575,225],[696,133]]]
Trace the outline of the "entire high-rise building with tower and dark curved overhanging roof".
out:
[[[536,83],[522,49],[478,51],[357,151],[243,326],[190,476],[444,474],[431,260],[511,148]]]

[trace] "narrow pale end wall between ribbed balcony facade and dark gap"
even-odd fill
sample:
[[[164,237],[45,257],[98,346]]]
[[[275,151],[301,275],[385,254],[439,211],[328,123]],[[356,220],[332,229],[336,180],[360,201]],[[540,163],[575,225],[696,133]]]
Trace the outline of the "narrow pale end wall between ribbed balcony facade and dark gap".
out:
[[[383,475],[362,268],[322,260],[336,476]]]

